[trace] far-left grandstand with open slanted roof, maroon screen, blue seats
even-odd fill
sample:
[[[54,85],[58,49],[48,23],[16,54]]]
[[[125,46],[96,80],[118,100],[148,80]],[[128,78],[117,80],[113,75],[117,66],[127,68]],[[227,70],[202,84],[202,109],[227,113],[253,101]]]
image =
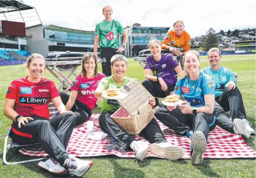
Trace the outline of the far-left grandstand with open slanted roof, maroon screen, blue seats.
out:
[[[42,24],[37,10],[18,0],[0,1],[0,65],[24,63],[27,51],[26,28]]]

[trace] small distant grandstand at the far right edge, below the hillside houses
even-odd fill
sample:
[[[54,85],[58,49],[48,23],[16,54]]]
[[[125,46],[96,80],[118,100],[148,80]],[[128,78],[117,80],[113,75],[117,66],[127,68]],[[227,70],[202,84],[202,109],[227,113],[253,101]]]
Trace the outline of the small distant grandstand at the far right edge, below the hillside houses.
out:
[[[256,40],[235,42],[236,53],[251,53],[256,51]]]

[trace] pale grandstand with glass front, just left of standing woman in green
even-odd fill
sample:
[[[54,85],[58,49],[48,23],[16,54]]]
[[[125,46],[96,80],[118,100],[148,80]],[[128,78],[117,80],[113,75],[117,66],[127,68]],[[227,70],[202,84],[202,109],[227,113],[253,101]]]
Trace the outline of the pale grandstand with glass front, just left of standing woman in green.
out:
[[[55,25],[26,28],[28,51],[47,56],[53,52],[93,52],[94,31],[76,30]],[[98,53],[99,53],[98,48]]]

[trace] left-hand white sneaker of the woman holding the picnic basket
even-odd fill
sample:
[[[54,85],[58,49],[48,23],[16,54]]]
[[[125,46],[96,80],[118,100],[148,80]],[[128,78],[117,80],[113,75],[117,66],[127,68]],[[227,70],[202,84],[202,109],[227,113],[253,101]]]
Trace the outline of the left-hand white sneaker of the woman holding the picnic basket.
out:
[[[133,141],[130,147],[136,152],[136,158],[143,161],[148,151],[148,141]]]

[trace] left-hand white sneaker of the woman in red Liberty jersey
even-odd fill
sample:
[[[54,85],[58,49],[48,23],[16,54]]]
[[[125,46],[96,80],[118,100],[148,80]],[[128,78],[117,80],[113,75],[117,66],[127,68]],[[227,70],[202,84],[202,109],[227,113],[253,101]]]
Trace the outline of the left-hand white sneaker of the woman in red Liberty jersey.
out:
[[[42,161],[38,162],[37,165],[50,173],[58,175],[65,175],[67,173],[66,169],[50,156],[45,157]]]

